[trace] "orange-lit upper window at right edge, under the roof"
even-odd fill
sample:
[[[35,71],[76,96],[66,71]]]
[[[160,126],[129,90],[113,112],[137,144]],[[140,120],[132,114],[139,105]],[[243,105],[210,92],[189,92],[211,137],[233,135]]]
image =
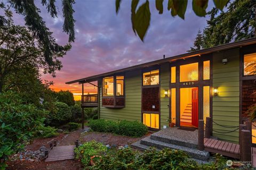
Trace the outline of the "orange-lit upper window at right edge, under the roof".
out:
[[[244,55],[244,75],[255,75],[256,74],[255,68],[256,68],[256,53]]]

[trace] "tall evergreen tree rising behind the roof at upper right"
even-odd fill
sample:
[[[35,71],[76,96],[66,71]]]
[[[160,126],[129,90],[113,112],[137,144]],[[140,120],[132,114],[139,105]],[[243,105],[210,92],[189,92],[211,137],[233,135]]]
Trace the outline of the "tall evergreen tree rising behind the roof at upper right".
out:
[[[229,1],[226,11],[214,7],[207,15],[210,20],[203,30],[203,40],[197,35],[190,51],[256,36],[256,0]]]

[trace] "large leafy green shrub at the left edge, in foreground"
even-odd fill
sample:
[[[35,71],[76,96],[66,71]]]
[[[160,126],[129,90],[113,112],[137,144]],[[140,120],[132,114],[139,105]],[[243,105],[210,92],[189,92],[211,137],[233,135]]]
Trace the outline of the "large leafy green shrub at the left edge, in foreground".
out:
[[[0,93],[0,169],[33,138],[46,114],[34,104],[25,104],[13,91]]]

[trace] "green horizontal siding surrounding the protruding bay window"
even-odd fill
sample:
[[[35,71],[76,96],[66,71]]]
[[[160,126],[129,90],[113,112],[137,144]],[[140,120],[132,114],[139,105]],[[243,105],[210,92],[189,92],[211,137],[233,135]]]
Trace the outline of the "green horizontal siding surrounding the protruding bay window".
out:
[[[102,107],[102,88],[100,87],[100,118],[106,120],[141,121],[141,70],[125,73],[125,107]]]

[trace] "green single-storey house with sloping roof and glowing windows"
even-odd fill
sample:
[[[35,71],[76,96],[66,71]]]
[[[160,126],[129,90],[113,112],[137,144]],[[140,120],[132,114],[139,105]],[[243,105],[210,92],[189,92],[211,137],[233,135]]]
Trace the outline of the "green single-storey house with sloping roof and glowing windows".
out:
[[[83,95],[82,107],[98,107],[99,118],[141,121],[150,130],[161,130],[169,126],[167,120],[197,128],[198,120],[210,116],[212,135],[237,143],[238,130],[225,133],[230,129],[219,125],[243,123],[247,108],[256,102],[250,65],[255,62],[256,38],[251,38],[67,84],[98,82],[98,94]]]

